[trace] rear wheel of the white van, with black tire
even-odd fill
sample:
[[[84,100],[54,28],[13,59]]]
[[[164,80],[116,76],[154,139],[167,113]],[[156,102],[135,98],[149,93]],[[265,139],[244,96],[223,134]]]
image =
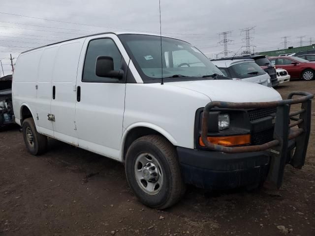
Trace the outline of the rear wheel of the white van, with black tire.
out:
[[[22,125],[23,139],[28,151],[33,155],[40,155],[47,150],[47,137],[36,130],[33,118],[27,118]]]

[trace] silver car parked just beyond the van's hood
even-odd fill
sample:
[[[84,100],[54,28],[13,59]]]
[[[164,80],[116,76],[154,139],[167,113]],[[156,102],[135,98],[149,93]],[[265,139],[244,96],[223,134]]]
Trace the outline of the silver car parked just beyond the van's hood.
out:
[[[212,62],[226,77],[271,87],[270,76],[253,59],[218,60]]]

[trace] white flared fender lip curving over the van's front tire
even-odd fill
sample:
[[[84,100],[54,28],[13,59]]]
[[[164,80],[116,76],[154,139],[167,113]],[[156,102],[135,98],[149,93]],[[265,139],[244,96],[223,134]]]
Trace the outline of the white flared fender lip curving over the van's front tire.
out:
[[[133,128],[137,127],[146,127],[146,128],[151,128],[161,135],[163,135],[172,145],[177,146],[177,141],[174,139],[174,137],[168,133],[166,130],[163,128],[159,127],[158,125],[149,123],[149,122],[136,122],[133,124],[130,124],[128,127],[123,127],[123,137],[122,137],[122,144],[121,144],[121,154],[120,154],[120,159],[123,160],[124,156],[124,147],[125,147],[125,142],[126,142],[126,137],[128,134],[128,131],[132,130]]]

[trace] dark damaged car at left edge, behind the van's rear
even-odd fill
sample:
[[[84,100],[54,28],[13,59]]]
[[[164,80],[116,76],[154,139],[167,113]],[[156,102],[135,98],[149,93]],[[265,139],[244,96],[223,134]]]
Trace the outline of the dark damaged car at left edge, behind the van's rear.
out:
[[[14,123],[12,75],[0,78],[0,127]]]

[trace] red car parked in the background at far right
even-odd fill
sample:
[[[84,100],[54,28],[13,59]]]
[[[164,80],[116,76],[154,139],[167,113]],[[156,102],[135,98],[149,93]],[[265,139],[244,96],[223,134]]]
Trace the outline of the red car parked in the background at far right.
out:
[[[292,79],[313,80],[315,78],[315,61],[297,57],[269,57],[268,59],[277,69],[287,70]]]

